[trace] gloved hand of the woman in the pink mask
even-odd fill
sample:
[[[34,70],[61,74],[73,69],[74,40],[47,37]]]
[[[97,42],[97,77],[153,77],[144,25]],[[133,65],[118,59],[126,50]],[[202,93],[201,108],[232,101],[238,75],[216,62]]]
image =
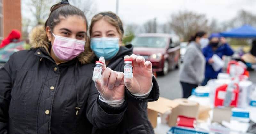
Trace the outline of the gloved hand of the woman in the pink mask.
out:
[[[103,62],[103,73],[101,80],[95,80],[95,86],[100,93],[99,99],[107,104],[120,105],[124,102],[124,73],[116,72],[106,68],[104,57],[99,61]]]

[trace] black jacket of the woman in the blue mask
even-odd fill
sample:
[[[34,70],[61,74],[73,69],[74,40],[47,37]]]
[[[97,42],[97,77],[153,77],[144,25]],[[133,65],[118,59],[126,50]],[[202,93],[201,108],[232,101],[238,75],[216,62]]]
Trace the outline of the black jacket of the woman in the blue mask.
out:
[[[111,59],[108,66],[115,71],[124,71],[124,56],[133,53],[133,46],[121,46],[117,55]],[[127,89],[125,96],[129,97],[128,108],[124,113],[120,124],[108,129],[94,128],[92,134],[154,134],[153,127],[148,120],[147,102],[156,101],[159,98],[159,86],[153,77],[153,88],[145,99],[133,96]]]

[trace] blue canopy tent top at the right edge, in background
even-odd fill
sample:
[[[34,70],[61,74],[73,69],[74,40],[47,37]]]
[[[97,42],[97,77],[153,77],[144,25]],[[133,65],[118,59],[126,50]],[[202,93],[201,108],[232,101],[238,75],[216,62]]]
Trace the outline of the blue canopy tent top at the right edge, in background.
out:
[[[222,32],[220,35],[230,38],[256,38],[256,29],[250,25],[244,25],[227,32]]]

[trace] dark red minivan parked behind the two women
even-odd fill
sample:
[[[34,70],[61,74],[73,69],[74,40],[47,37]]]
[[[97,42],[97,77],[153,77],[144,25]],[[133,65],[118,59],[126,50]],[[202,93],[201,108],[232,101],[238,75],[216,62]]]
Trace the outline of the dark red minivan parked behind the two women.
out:
[[[133,53],[151,61],[153,71],[166,75],[179,67],[180,39],[173,34],[145,33],[136,36],[131,44]]]

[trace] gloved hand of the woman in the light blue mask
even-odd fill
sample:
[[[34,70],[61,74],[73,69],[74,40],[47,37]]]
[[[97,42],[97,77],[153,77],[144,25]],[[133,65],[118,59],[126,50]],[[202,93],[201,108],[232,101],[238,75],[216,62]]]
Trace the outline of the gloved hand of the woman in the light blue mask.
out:
[[[132,59],[133,66],[133,78],[124,79],[124,84],[127,89],[136,95],[144,95],[152,89],[152,63],[150,61],[145,62],[145,58],[132,54],[131,56],[125,56],[124,59]]]

